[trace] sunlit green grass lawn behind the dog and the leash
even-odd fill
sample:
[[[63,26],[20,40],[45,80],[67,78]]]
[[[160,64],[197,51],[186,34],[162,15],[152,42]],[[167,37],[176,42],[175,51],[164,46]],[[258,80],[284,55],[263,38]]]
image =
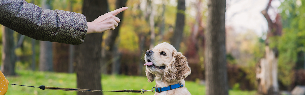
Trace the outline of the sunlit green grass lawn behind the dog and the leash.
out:
[[[18,76],[6,77],[9,83],[27,86],[53,86],[76,88],[76,74],[39,72],[39,71],[17,71]],[[186,88],[192,95],[204,95],[205,86],[196,82],[186,81]],[[145,76],[126,76],[126,75],[102,75],[103,90],[149,90],[155,86],[155,82],[147,82]],[[255,95],[256,91],[230,90],[230,95]],[[76,95],[72,91],[60,90],[40,90],[39,88],[9,85],[6,95]],[[153,92],[123,93],[123,92],[104,92],[104,95],[152,95]]]

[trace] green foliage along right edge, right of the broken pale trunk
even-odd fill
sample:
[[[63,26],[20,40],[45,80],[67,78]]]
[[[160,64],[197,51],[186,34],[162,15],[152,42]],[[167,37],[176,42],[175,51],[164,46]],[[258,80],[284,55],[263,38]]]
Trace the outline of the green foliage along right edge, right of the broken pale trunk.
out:
[[[297,53],[305,46],[305,0],[285,0],[282,10],[283,34],[272,38],[270,46],[278,47],[278,78],[285,86],[293,82]]]

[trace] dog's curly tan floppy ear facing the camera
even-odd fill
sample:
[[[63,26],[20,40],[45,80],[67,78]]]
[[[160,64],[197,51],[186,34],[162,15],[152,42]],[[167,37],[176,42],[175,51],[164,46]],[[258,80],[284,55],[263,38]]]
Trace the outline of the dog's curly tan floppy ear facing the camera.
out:
[[[164,78],[170,82],[184,79],[191,74],[186,57],[177,51],[172,54],[173,58],[164,70]]]

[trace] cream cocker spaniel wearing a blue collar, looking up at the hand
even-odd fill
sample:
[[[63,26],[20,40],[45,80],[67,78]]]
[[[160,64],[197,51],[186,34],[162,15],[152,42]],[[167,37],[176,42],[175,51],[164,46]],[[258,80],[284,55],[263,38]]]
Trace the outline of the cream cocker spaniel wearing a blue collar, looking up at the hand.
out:
[[[156,80],[155,95],[191,95],[184,79],[191,74],[186,57],[167,42],[145,53],[148,82]]]

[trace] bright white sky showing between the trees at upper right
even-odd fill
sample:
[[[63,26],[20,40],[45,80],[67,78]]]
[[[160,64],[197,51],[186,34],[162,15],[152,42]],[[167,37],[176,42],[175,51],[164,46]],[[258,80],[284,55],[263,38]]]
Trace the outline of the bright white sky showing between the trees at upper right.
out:
[[[267,7],[269,0],[226,0],[226,26],[232,27],[237,33],[254,31],[258,36],[263,37],[267,32],[268,24],[264,15],[261,13]],[[271,2],[271,9],[268,14],[271,20],[275,19],[278,7],[281,5],[279,0]]]

